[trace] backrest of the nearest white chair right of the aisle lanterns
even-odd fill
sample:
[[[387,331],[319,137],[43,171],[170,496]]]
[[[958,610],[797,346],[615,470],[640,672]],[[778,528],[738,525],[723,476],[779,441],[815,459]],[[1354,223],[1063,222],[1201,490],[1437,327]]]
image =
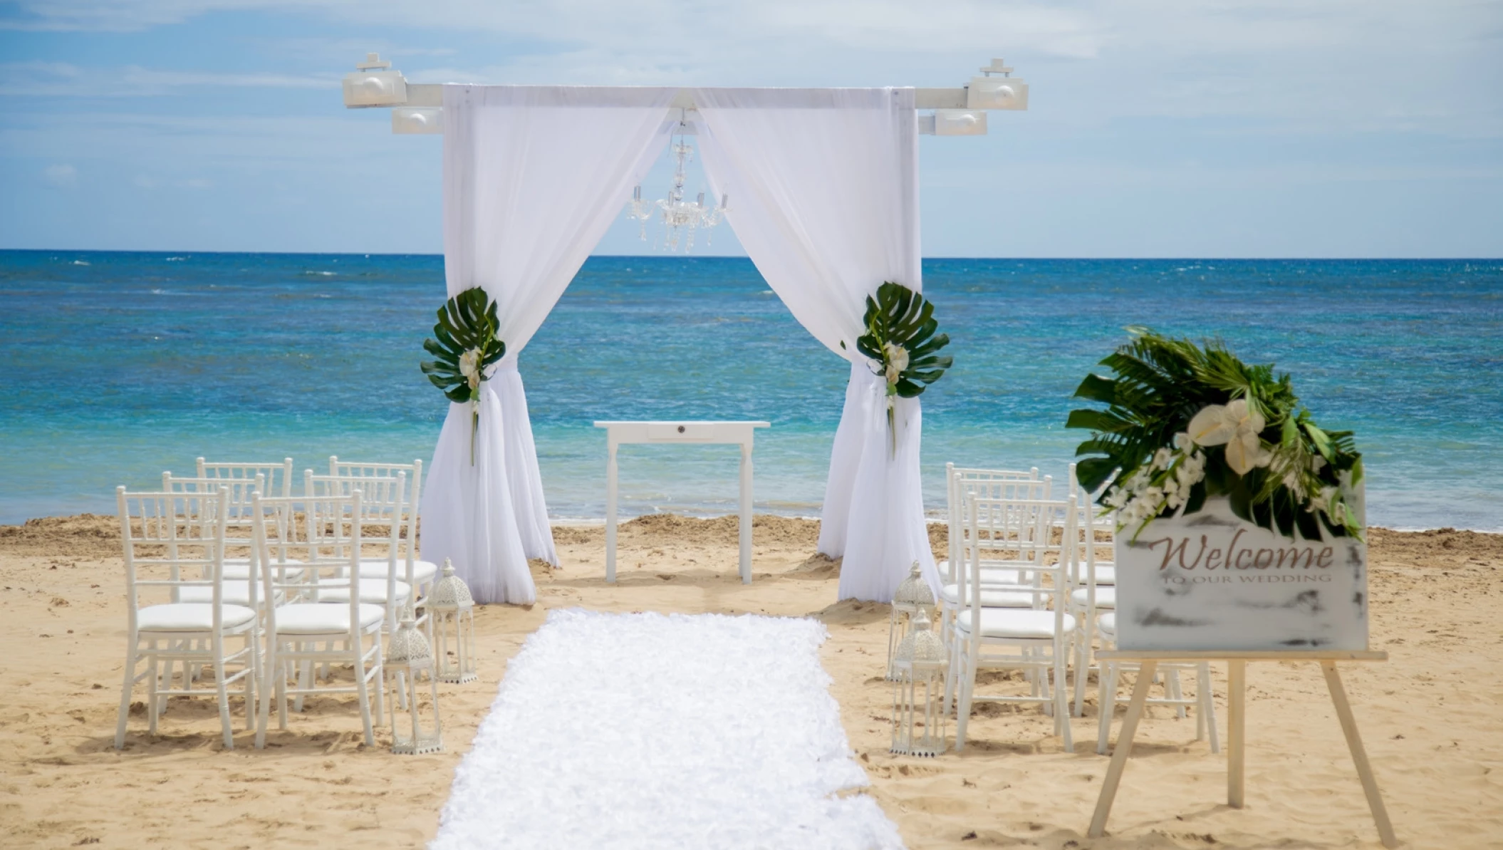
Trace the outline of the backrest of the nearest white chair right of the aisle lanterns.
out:
[[[960,605],[980,611],[981,566],[1003,563],[1018,572],[1018,582],[987,582],[987,588],[1031,593],[1034,608],[1052,602],[1063,615],[1079,549],[1078,513],[1075,496],[969,499],[963,522]],[[1055,533],[1057,528],[1063,534]]]

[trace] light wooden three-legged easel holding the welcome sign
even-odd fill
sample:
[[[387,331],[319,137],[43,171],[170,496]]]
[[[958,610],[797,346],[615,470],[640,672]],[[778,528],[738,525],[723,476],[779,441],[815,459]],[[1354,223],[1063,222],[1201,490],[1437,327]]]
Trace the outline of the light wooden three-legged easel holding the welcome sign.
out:
[[[1132,754],[1132,739],[1138,731],[1138,721],[1142,718],[1142,707],[1148,698],[1148,685],[1159,662],[1201,662],[1225,660],[1229,668],[1228,703],[1228,758],[1226,758],[1226,805],[1241,808],[1243,805],[1243,742],[1246,737],[1244,691],[1246,665],[1249,660],[1314,660],[1320,662],[1326,674],[1326,686],[1330,689],[1330,701],[1336,706],[1336,716],[1341,719],[1341,731],[1347,734],[1347,748],[1351,749],[1351,760],[1357,764],[1357,776],[1362,779],[1362,790],[1368,794],[1368,806],[1372,809],[1372,820],[1378,824],[1378,838],[1384,847],[1398,847],[1399,839],[1393,835],[1393,824],[1389,823],[1389,812],[1383,808],[1383,797],[1378,794],[1378,782],[1372,778],[1372,766],[1368,764],[1368,754],[1362,748],[1362,737],[1357,734],[1357,721],[1351,716],[1351,703],[1347,700],[1347,689],[1341,685],[1336,672],[1338,660],[1387,660],[1389,653],[1381,651],[1320,651],[1320,650],[1288,650],[1288,651],[1133,651],[1133,650],[1103,650],[1096,657],[1106,660],[1138,662],[1138,683],[1132,689],[1132,701],[1127,704],[1127,718],[1123,721],[1117,748],[1112,751],[1111,767],[1106,769],[1106,782],[1102,784],[1102,796],[1096,800],[1096,814],[1091,817],[1091,838],[1100,838],[1106,832],[1106,817],[1111,815],[1112,800],[1117,797],[1117,784],[1121,782],[1123,769]]]

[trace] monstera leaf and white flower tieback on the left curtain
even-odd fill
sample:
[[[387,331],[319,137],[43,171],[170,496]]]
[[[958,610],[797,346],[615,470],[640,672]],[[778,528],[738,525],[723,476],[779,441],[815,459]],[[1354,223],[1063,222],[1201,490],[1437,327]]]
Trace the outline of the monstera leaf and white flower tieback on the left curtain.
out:
[[[470,403],[470,465],[475,465],[475,432],[479,430],[479,385],[485,370],[507,355],[507,343],[496,335],[496,302],[475,286],[460,292],[439,308],[439,323],[422,351],[434,360],[421,364],[422,373],[443,396]]]

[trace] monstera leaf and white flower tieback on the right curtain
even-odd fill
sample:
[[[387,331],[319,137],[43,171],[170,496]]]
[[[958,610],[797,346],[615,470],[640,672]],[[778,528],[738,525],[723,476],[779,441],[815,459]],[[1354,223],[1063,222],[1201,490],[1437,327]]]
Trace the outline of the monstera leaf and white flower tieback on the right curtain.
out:
[[[950,337],[936,332],[939,320],[933,313],[933,304],[900,283],[884,283],[876,287],[876,298],[866,296],[866,316],[861,319],[866,332],[855,340],[855,349],[882,364],[876,375],[887,379],[887,433],[894,454],[894,400],[921,394],[954,363],[954,358],[938,354],[950,345]]]

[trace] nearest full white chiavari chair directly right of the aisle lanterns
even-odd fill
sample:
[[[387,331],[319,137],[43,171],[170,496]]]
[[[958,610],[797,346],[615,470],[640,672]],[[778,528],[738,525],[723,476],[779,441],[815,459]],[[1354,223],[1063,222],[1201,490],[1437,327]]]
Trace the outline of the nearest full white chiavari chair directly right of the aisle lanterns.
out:
[[[1055,524],[1064,537],[1051,534]],[[956,695],[956,751],[975,701],[1039,703],[1054,716],[1055,734],[1073,748],[1066,665],[1075,638],[1075,617],[1066,612],[1073,549],[1066,542],[1076,533],[1076,502],[1067,499],[966,501],[965,554],[960,569],[960,608],[951,626],[950,669],[945,692]],[[981,564],[992,558],[1016,564],[1018,581],[992,585],[1030,593],[1031,608],[992,608],[983,603]],[[1034,672],[1030,695],[977,695],[981,669]]]

